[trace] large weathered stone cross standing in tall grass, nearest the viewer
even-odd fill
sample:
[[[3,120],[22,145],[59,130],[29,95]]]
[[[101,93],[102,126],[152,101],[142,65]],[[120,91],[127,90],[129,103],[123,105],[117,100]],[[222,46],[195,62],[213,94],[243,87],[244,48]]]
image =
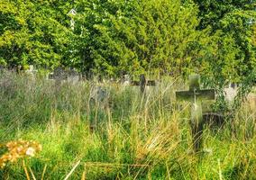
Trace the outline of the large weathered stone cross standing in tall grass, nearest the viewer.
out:
[[[200,76],[188,77],[189,90],[177,91],[178,100],[190,101],[191,103],[191,129],[193,136],[193,148],[196,152],[202,147],[203,113],[201,102],[203,100],[215,100],[215,89],[200,89]]]

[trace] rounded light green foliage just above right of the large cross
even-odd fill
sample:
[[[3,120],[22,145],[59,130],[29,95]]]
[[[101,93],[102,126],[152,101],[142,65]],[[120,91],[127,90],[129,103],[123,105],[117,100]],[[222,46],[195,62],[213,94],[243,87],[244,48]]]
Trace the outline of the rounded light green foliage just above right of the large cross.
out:
[[[208,30],[206,30],[208,31]],[[241,52],[230,35],[216,31],[214,35],[202,33],[202,36],[191,46],[193,62],[202,75],[203,82],[211,86],[223,86],[228,81],[240,80],[238,72],[244,65],[235,58]]]

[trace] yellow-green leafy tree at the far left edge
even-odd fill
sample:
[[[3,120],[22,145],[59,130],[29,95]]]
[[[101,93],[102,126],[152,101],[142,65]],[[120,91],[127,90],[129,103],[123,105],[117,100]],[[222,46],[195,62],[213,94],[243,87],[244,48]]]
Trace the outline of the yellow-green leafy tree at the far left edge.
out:
[[[55,2],[51,1],[1,1],[2,65],[56,67],[65,60],[69,43],[68,17],[65,22],[65,15],[56,14],[54,8]]]

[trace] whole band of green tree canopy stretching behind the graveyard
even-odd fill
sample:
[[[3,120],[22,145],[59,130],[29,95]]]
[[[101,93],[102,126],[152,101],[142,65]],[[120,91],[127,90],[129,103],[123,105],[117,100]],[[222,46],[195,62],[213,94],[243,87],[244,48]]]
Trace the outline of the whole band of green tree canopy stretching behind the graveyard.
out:
[[[256,63],[255,17],[250,0],[3,0],[0,64],[240,81]]]

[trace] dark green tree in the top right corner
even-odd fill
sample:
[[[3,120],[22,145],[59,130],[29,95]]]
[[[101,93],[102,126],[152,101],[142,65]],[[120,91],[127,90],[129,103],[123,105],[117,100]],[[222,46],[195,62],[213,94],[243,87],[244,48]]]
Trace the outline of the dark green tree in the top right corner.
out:
[[[233,45],[230,46],[239,52],[232,57],[236,61],[234,63],[236,65],[235,74],[242,78],[250,74],[256,63],[256,52],[251,40],[252,22],[256,18],[255,3],[251,0],[194,1],[198,4],[201,18],[197,29],[210,28],[212,35],[222,31],[225,37],[233,39]]]

